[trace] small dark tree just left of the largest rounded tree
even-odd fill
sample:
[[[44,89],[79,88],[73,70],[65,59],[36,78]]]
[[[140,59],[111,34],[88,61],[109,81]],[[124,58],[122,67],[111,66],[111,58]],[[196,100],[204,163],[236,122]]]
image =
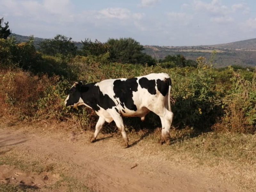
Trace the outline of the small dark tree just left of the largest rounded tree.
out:
[[[91,41],[91,39],[85,39],[82,41],[83,47],[82,47],[82,54],[84,56],[94,55],[99,56],[102,54],[105,54],[108,52],[108,45],[103,44],[97,39],[95,39],[94,42]]]

